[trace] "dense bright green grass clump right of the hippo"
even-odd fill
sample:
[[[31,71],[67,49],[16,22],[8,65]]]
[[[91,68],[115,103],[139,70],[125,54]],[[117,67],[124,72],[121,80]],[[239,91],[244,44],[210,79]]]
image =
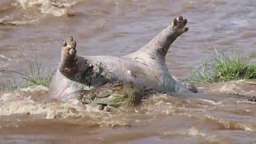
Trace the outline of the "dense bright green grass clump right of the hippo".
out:
[[[242,56],[242,53],[233,52],[231,57],[215,50],[212,58],[204,60],[201,66],[192,71],[190,81],[214,83],[235,79],[256,78],[256,65],[252,57]]]

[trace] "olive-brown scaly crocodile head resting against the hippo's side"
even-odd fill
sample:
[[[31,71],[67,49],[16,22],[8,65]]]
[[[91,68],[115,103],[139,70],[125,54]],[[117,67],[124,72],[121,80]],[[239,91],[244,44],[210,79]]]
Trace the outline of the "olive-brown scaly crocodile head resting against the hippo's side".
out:
[[[113,84],[107,83],[92,90],[79,91],[77,99],[83,103],[130,107],[138,105],[145,95],[145,91],[138,85],[132,82],[122,83],[117,81]]]

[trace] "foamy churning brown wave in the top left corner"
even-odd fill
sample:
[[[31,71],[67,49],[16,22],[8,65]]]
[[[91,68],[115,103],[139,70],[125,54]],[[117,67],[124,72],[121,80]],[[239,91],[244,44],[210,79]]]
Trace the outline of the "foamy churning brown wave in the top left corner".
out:
[[[0,25],[27,25],[39,22],[47,15],[53,17],[73,17],[76,15],[70,7],[84,0],[17,0],[14,3],[3,4],[4,14]]]

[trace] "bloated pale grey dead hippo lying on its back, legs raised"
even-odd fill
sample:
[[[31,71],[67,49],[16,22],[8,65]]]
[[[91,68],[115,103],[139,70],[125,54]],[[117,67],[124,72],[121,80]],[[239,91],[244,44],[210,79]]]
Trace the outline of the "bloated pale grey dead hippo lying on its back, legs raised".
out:
[[[49,95],[62,101],[73,100],[81,90],[114,81],[131,81],[156,91],[196,93],[193,84],[172,77],[165,65],[170,45],[188,31],[186,24],[187,20],[182,17],[174,19],[141,49],[122,57],[76,55],[76,42],[69,37],[67,42],[62,42],[61,59],[50,83]]]

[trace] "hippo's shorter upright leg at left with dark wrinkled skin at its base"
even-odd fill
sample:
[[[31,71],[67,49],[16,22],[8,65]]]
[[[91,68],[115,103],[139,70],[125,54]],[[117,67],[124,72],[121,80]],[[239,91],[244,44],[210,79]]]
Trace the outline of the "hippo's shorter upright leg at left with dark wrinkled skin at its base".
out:
[[[97,87],[112,81],[109,78],[111,74],[106,74],[106,71],[103,71],[106,68],[101,65],[100,59],[90,59],[89,57],[76,55],[76,41],[73,40],[73,37],[69,37],[66,42],[62,42],[59,72],[71,81],[82,83],[89,87],[91,85]],[[105,76],[108,78],[105,78]]]

